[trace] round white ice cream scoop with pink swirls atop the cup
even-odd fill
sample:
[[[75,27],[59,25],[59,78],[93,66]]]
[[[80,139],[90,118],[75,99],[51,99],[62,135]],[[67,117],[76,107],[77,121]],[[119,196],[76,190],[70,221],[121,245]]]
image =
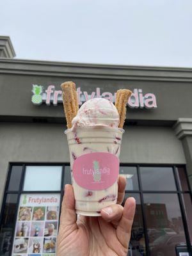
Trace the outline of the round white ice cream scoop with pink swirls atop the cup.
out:
[[[111,101],[94,98],[84,102],[79,108],[72,120],[72,130],[87,126],[118,127],[119,122],[118,111]]]

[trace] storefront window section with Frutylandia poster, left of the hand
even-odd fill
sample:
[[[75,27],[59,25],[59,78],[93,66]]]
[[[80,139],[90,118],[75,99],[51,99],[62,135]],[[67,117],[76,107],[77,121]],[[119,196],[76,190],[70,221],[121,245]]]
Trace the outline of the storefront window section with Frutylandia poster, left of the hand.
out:
[[[0,255],[56,253],[63,165],[12,165],[0,225]]]

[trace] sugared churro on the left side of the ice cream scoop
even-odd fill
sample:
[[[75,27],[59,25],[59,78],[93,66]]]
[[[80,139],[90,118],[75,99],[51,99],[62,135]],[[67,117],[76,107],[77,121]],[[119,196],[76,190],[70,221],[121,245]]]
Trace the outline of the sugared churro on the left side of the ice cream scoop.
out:
[[[72,120],[77,115],[79,104],[77,99],[76,84],[73,82],[65,82],[61,84],[63,90],[63,106],[67,120],[67,128],[72,127]]]

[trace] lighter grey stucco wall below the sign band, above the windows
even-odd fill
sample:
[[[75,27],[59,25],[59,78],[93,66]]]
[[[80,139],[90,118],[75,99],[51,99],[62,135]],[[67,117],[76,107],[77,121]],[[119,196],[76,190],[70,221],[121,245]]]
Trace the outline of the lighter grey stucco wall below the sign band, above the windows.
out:
[[[63,124],[1,123],[0,202],[8,163],[69,161]],[[125,127],[121,163],[185,164],[182,143],[171,127]]]

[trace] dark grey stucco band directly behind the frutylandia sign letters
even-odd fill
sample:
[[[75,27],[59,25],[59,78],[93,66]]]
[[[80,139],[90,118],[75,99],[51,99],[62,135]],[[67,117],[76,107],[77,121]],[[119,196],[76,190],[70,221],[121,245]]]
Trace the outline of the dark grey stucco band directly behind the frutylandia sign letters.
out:
[[[47,86],[54,84],[56,90],[60,90],[60,84],[64,81],[73,80],[82,92],[89,94],[100,87],[102,92],[115,93],[119,88],[142,89],[143,93],[154,93],[157,99],[157,109],[131,109],[127,108],[129,120],[164,120],[177,121],[180,117],[192,116],[191,106],[191,83],[164,82],[164,81],[119,81],[113,79],[54,77],[54,76],[26,76],[20,74],[1,74],[0,77],[0,118],[1,116],[29,116],[44,118],[63,118],[63,106],[35,106],[31,102],[33,93],[32,84]]]

